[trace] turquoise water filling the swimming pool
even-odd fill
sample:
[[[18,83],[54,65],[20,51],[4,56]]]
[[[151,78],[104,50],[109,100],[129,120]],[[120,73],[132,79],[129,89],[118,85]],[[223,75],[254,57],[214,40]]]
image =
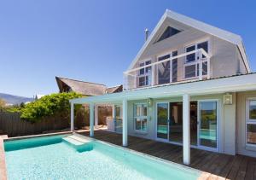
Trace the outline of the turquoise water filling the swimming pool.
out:
[[[75,147],[62,136],[4,142],[9,179],[196,179],[199,171],[92,141]]]

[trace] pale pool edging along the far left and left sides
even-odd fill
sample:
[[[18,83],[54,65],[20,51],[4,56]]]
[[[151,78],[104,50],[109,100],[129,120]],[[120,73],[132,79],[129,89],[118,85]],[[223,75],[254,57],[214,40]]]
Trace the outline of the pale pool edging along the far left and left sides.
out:
[[[56,136],[56,135],[71,135],[73,134],[72,131],[63,131],[63,132],[54,132],[54,133],[47,133],[47,134],[39,134],[39,135],[30,135],[30,136],[15,136],[15,137],[3,137],[0,136],[0,180],[7,180],[7,168],[5,163],[5,151],[3,142],[9,142],[14,140],[21,140],[21,139],[29,139],[34,137],[41,137],[41,136]]]

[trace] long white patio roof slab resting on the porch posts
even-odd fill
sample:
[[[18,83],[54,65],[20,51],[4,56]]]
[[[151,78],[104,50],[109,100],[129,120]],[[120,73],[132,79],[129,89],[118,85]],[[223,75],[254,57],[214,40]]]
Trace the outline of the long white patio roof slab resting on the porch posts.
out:
[[[139,90],[125,90],[123,92],[106,94],[103,96],[77,98],[70,100],[70,102],[74,104],[113,103],[121,102],[124,99],[131,101],[148,98],[183,96],[184,94],[196,96],[245,90],[256,90],[256,73],[198,80],[183,84],[153,86]]]

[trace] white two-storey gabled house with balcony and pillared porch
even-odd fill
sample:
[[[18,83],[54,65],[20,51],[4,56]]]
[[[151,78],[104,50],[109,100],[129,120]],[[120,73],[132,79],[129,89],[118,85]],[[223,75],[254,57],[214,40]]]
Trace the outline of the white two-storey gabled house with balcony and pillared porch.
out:
[[[130,67],[124,91],[71,100],[94,107],[114,105],[113,120],[128,135],[190,148],[256,157],[256,74],[241,37],[166,10]],[[121,109],[121,110],[120,110]]]

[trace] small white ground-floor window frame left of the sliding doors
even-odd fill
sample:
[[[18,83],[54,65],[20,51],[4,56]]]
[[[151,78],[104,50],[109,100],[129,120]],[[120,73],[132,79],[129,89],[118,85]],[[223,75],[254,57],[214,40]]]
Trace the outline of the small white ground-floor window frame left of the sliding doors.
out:
[[[137,114],[136,114],[137,113],[137,108],[136,108],[137,106],[141,107],[139,116],[137,116]],[[147,108],[147,115],[146,116],[143,116],[143,106]],[[140,119],[140,129],[139,130],[136,129],[137,119]],[[145,130],[142,129],[143,119],[146,119],[146,128],[145,128]],[[145,103],[141,102],[141,103],[134,103],[133,104],[133,123],[134,123],[134,125],[133,125],[134,131],[144,132],[144,133],[148,132],[148,104],[146,102]]]

